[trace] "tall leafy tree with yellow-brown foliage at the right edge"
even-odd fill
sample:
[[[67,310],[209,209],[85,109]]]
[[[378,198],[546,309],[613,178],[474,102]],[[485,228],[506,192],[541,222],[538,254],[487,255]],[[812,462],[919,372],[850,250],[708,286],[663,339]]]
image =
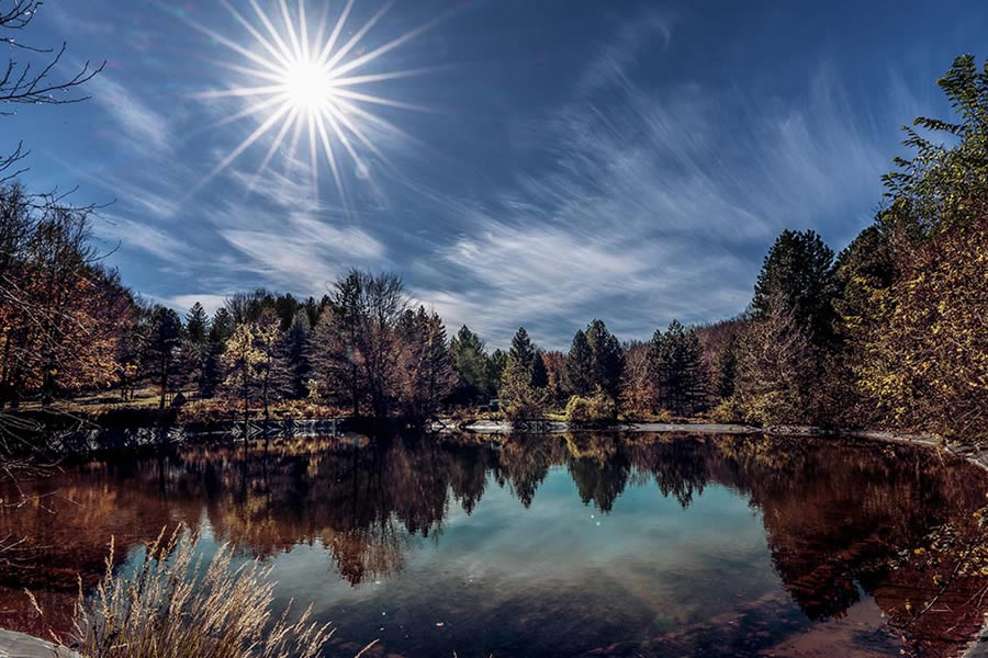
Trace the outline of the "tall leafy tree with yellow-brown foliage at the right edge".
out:
[[[970,440],[988,434],[988,63],[957,57],[938,84],[956,116],[918,117],[930,137],[905,128],[914,155],[885,177],[839,310],[858,390],[887,422]]]

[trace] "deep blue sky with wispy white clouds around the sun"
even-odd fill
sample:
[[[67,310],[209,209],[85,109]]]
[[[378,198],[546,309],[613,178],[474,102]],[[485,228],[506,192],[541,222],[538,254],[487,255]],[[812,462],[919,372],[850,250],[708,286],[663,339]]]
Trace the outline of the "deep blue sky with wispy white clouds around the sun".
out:
[[[311,38],[344,7],[307,0]],[[356,0],[339,42],[383,7]],[[420,109],[358,103],[377,117],[349,114],[377,149],[351,135],[362,166],[329,135],[343,203],[325,159],[313,183],[305,148],[271,150],[280,124],[211,178],[271,114],[228,121],[257,99],[210,95],[251,65],[224,39],[265,55],[229,7],[50,0],[23,36],[106,70],[91,101],[25,109],[3,135],[32,149],[33,186],[116,200],[96,226],[120,242],[110,262],[179,309],[256,286],[319,296],[359,266],[400,272],[492,345],[524,324],[562,348],[594,317],[648,338],[741,311],[784,228],[845,246],[899,126],[946,113],[934,82],[955,55],[988,56],[986,19],[951,1],[398,0],[340,64],[428,25],[359,69],[426,69],[359,88]]]

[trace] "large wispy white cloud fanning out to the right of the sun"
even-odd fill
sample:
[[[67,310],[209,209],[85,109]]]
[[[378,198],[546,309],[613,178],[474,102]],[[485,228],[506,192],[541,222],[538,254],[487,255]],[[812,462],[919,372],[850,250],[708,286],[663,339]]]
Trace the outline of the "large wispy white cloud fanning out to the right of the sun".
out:
[[[887,159],[826,67],[802,101],[640,86],[636,63],[661,57],[671,38],[654,16],[621,31],[573,100],[534,120],[549,125],[530,134],[552,164],[484,204],[459,204],[472,230],[415,270],[418,295],[451,325],[503,345],[523,322],[563,348],[593,317],[622,338],[673,318],[729,317],[778,230],[846,227],[874,195]]]

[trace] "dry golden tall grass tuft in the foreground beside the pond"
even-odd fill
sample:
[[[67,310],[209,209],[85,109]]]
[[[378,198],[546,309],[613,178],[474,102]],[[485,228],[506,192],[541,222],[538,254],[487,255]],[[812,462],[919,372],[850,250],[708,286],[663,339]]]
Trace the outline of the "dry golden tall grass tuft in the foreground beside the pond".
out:
[[[113,544],[96,591],[76,604],[67,645],[85,658],[315,658],[333,635],[310,622],[311,606],[277,619],[271,567],[231,568],[223,545],[203,572],[198,541],[165,531],[127,577],[113,575]]]

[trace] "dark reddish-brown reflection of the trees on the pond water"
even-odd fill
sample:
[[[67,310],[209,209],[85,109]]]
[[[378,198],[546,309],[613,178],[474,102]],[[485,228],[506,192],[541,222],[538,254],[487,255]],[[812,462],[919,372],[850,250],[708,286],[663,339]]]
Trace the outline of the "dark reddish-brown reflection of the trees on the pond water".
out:
[[[684,510],[714,485],[748,500],[805,619],[772,614],[794,628],[840,620],[864,593],[887,615],[886,631],[905,635],[908,651],[947,655],[988,609],[979,566],[956,568],[963,556],[980,555],[972,545],[988,477],[927,450],[763,435],[573,433],[502,444],[281,438],[96,461],[27,483],[43,496],[0,508],[4,533],[26,537],[24,551],[0,564],[0,626],[38,631],[24,588],[65,624],[76,575],[83,586],[98,579],[111,535],[134,547],[178,522],[262,558],[322,547],[355,587],[394,578],[423,540],[440,541],[450,506],[473,514],[493,486],[528,510],[558,469],[605,515],[628,487],[656,487]],[[781,637],[775,628],[762,645],[739,645],[720,626],[681,625],[628,646],[600,642],[616,655],[632,646],[655,656],[697,646],[745,655]]]

